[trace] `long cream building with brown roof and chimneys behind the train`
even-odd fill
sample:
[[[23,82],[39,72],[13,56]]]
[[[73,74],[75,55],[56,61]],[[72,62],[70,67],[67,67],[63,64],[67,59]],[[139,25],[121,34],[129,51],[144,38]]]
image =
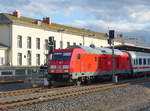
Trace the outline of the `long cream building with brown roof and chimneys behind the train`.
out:
[[[5,56],[6,65],[39,66],[44,64],[48,54],[49,36],[54,36],[56,48],[83,44],[89,46],[92,43],[97,47],[108,46],[104,33],[55,24],[49,17],[43,20],[22,17],[17,11],[13,14],[0,14],[0,42],[9,47],[7,55],[2,54]],[[118,45],[121,42],[116,41],[115,44]],[[0,50],[1,53],[4,52]]]

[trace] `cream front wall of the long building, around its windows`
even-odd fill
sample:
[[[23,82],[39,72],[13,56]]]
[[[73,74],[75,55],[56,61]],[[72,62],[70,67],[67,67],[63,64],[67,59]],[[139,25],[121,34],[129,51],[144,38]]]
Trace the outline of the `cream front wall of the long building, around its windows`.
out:
[[[17,47],[17,36],[22,36],[23,46],[22,48]],[[27,48],[27,37],[31,37],[32,41],[32,48]],[[45,50],[45,39],[48,39],[49,36],[54,36],[56,40],[56,48],[60,48],[60,41],[61,37],[63,40],[63,48],[67,47],[67,42],[70,42],[70,45],[73,45],[73,43],[76,43],[79,45],[81,43],[83,45],[83,37],[67,34],[64,32],[52,32],[47,31],[44,29],[38,29],[38,28],[31,28],[31,27],[25,27],[25,26],[19,26],[19,25],[12,25],[12,65],[17,66],[17,53],[22,53],[23,57],[23,66],[27,65],[27,51],[30,50],[32,52],[32,66],[36,65],[36,54],[40,54],[41,59],[41,65],[44,64],[46,59],[46,51]],[[40,38],[40,49],[36,49],[36,38]],[[107,40],[101,40],[97,38],[90,38],[85,37],[85,46],[89,46],[91,43],[94,43],[97,47],[100,46],[108,46]]]

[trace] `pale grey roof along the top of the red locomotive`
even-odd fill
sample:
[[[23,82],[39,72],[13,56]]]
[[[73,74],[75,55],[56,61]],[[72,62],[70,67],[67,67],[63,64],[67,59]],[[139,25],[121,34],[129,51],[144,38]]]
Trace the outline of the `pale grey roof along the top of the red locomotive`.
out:
[[[87,46],[75,46],[72,48],[82,48],[86,53],[89,53],[89,54],[112,55],[112,49],[110,49],[110,48],[87,47]],[[123,52],[118,49],[114,49],[114,55],[123,55]]]

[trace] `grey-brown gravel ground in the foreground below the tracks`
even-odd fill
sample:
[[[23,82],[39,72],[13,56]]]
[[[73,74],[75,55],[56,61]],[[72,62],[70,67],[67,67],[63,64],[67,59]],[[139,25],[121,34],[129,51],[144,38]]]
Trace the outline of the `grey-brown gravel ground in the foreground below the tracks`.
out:
[[[150,111],[150,82],[22,106],[8,111]]]

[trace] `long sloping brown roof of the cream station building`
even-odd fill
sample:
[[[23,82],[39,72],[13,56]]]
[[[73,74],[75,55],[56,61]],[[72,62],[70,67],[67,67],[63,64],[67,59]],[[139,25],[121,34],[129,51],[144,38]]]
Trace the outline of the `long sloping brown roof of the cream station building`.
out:
[[[30,27],[42,28],[45,30],[56,31],[56,32],[59,29],[65,29],[63,33],[69,33],[73,35],[86,36],[86,37],[88,37],[89,35],[95,35],[93,36],[93,38],[99,38],[103,40],[107,39],[106,33],[99,33],[99,32],[95,32],[95,31],[91,31],[87,29],[75,28],[75,27],[56,24],[56,23],[47,24],[47,23],[44,23],[42,20],[38,20],[38,21],[41,21],[41,25],[37,25],[35,24],[35,21],[37,21],[37,19],[32,19],[32,18],[23,17],[23,16],[18,18],[18,17],[13,16],[12,14],[7,14],[7,13],[0,14],[0,23],[2,23],[1,21],[5,24],[7,23],[7,24],[25,25],[28,27],[30,26]],[[89,36],[89,37],[92,37],[92,36]],[[116,41],[123,42],[122,40],[116,40]]]

